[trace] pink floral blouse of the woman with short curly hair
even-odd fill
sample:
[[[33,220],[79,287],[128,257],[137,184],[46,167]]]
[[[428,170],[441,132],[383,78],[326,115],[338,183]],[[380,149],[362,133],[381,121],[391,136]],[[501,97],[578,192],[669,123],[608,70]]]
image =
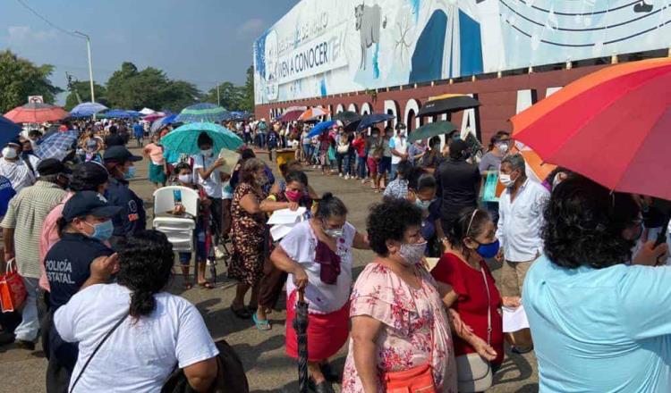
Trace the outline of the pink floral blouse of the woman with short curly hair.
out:
[[[456,393],[452,335],[436,283],[418,266],[421,288],[410,287],[379,263],[369,263],[352,290],[350,318],[368,315],[383,323],[378,334],[378,392],[384,392],[385,372],[432,363],[437,391]],[[431,355],[432,354],[432,355]],[[362,393],[354,365],[353,342],[344,364],[344,393]]]

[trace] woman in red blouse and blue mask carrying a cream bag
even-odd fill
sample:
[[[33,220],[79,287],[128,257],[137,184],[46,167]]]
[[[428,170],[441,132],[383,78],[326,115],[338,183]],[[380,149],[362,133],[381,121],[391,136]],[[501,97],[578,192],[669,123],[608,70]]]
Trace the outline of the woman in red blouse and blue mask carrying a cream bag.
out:
[[[504,358],[500,307],[514,306],[513,299],[501,298],[485,263],[498,252],[496,227],[486,211],[465,209],[446,237],[453,247],[431,274],[446,294],[443,303],[472,330],[454,339],[459,391],[485,391]]]

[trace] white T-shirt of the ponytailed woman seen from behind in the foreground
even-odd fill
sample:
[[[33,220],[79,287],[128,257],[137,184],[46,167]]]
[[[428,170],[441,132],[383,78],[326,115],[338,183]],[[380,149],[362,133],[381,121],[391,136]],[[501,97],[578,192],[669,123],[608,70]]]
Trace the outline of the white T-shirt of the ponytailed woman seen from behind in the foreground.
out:
[[[128,313],[131,291],[117,284],[85,288],[61,306],[54,324],[61,337],[79,342],[70,383],[98,342]],[[174,370],[218,355],[198,309],[183,297],[154,296],[149,317],[125,321],[106,340],[81,374],[75,392],[157,392]]]

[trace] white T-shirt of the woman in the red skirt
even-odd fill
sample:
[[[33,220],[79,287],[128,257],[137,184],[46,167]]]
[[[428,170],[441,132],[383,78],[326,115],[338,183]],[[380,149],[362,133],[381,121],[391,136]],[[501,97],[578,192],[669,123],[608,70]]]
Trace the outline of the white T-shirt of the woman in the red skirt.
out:
[[[315,262],[317,237],[310,221],[296,224],[293,230],[280,241],[280,247],[285,250],[293,261],[301,263],[308,274],[310,283],[305,288],[305,298],[308,300],[308,309],[311,313],[328,314],[343,308],[350,297],[352,288],[352,243],[356,229],[351,223],[345,222],[344,235],[337,238],[337,255],[340,256],[340,275],[335,285],[325,284],[319,278],[321,264]],[[293,274],[286,280],[286,294],[290,296],[296,286],[293,285]]]

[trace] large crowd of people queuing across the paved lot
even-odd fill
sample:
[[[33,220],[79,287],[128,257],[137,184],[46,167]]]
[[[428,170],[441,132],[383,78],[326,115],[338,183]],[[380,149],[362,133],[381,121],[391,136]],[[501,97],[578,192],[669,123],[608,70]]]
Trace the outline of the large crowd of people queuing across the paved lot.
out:
[[[34,349],[41,332],[47,391],[157,391],[175,367],[196,391],[217,380],[219,350],[202,317],[168,293],[173,245],[147,230],[129,187],[142,159],[126,147],[131,130],[150,182],[198,194],[194,252],[179,254],[184,288],[193,285],[191,260],[195,283],[214,288],[210,251],[223,255],[230,242],[231,312],[271,330],[268,313],[285,288],[293,358],[301,356],[293,319],[304,297],[315,392],[333,392],[335,382],[347,393],[485,391],[505,342],[516,354],[536,352],[541,390],[671,387],[671,273],[661,267],[666,244],[654,241],[664,201],[611,193],[562,168],[533,180],[505,131],[474,152],[455,131],[409,143],[403,123],[363,132],[336,124],[314,138],[302,123],[225,125],[250,144],[233,165],[205,132],[199,154],[175,155],[161,145],[169,127],[148,134],[138,122],[66,124],[81,138],[63,161],[31,155],[39,131],[4,146],[4,262],[16,265],[28,297],[0,323],[4,342],[23,348]],[[251,145],[293,148],[296,159],[275,176]],[[310,186],[310,167],[382,193],[365,229],[348,221],[337,193]],[[503,190],[483,201],[491,174]],[[184,209],[175,199],[169,213]],[[299,209],[301,222],[271,236],[268,217]],[[358,277],[354,249],[373,254]],[[491,263],[501,264],[499,282]],[[519,307],[531,330],[504,333],[503,308]],[[341,374],[329,359],[345,343]],[[612,365],[618,372],[604,372]]]

